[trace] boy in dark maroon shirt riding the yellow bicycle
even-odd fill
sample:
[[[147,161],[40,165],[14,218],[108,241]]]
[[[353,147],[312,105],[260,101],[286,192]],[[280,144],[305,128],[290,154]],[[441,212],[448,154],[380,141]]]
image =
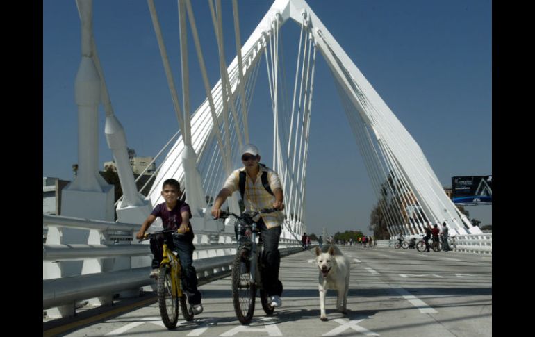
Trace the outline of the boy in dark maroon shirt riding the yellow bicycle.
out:
[[[176,179],[164,181],[162,197],[165,202],[154,207],[154,210],[147,217],[147,220],[143,222],[140,231],[135,237],[142,239],[145,236],[145,231],[157,217],[161,217],[163,229],[185,233],[181,237],[173,237],[169,233],[167,235],[161,234],[157,238],[151,238],[150,246],[154,258],[150,277],[158,277],[158,268],[163,258],[163,243],[165,240],[167,246],[178,253],[184,281],[183,288],[188,294],[193,313],[199,315],[203,311],[203,307],[201,304],[202,296],[197,289],[197,272],[192,265],[195,246],[193,245],[193,230],[190,224],[191,211],[186,202],[179,200],[180,195],[180,183]]]

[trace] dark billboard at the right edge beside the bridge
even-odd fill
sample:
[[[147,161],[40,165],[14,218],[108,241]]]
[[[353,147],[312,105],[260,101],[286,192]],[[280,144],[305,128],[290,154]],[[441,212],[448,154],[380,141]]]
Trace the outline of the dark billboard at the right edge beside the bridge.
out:
[[[454,204],[482,204],[493,201],[493,176],[453,176]]]

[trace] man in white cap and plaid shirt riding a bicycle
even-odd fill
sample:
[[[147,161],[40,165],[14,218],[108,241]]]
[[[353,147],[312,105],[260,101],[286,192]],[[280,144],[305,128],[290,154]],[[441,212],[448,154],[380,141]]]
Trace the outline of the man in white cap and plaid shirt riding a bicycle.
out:
[[[242,151],[244,167],[235,170],[225,181],[222,190],[215,198],[212,215],[215,219],[221,215],[221,205],[240,190],[246,211],[260,211],[263,208],[277,208],[282,210],[283,192],[281,181],[276,172],[260,164],[260,154],[256,146],[245,145]],[[282,212],[256,215],[254,220],[260,229],[261,240],[264,245],[262,263],[265,264],[264,288],[269,296],[271,306],[281,306],[282,283],[279,281],[279,238],[281,224],[284,220]]]

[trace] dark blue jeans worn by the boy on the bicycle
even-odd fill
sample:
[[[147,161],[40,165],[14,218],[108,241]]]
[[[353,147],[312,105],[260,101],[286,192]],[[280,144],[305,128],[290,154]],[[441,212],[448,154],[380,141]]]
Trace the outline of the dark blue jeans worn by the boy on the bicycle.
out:
[[[158,236],[157,239],[151,239],[151,252],[154,255],[152,259],[152,268],[159,268],[163,259],[163,242],[167,243],[169,249],[177,253],[181,265],[182,288],[188,295],[191,305],[201,303],[201,292],[197,289],[197,271],[193,267],[193,251],[195,246],[191,238],[176,238],[171,235]]]

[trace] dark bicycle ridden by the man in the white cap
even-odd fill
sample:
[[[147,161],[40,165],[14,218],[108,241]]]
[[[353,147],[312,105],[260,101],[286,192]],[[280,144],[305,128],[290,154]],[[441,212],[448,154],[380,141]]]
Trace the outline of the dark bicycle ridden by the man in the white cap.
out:
[[[220,218],[235,217],[238,249],[232,265],[232,301],[236,317],[242,324],[249,324],[254,314],[256,289],[260,291],[260,302],[266,315],[272,315],[274,307],[270,306],[268,293],[263,288],[263,256],[262,242],[256,237],[259,229],[253,218],[263,213],[275,212],[275,208],[261,211],[245,212],[241,216],[234,213],[221,212]],[[260,238],[260,236],[258,236]]]

